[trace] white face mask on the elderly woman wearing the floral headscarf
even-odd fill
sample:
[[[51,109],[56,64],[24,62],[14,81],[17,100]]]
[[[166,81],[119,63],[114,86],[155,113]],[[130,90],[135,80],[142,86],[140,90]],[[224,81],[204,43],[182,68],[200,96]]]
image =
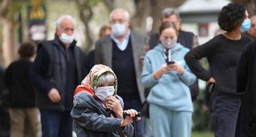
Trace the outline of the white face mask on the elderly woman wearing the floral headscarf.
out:
[[[100,99],[100,101],[105,103],[105,98],[107,98],[108,96],[113,96],[114,92],[114,86],[97,87],[95,90],[95,96],[97,96]]]

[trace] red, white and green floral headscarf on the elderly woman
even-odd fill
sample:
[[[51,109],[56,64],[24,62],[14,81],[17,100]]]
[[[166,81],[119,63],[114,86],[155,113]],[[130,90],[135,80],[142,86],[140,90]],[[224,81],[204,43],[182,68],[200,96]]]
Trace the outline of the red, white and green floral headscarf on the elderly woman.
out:
[[[88,94],[92,95],[94,98],[97,98],[95,96],[94,87],[97,84],[99,76],[108,71],[111,72],[115,76],[115,92],[114,92],[114,96],[115,96],[117,93],[117,77],[110,67],[102,65],[102,64],[97,64],[97,65],[93,66],[90,73],[86,76],[86,78],[84,78],[81,81],[81,85],[76,87],[74,96],[78,92],[87,92]]]

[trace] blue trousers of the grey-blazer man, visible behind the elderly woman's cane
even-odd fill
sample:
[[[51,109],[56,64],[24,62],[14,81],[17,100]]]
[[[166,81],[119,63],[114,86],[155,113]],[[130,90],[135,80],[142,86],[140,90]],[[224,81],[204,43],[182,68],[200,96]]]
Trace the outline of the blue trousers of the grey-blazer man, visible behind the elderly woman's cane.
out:
[[[123,101],[123,102],[124,102],[123,110],[135,109],[137,112],[141,111],[142,103],[141,103],[140,99],[131,100],[131,101]],[[136,122],[137,123],[138,137],[144,137],[143,120],[144,120],[144,117],[141,116],[141,120]]]

